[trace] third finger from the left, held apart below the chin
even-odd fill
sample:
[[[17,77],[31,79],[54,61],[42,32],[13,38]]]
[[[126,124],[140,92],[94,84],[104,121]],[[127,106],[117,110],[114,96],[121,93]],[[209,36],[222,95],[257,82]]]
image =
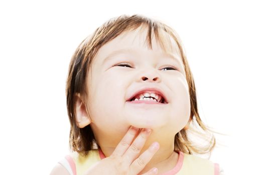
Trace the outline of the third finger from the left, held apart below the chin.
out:
[[[142,171],[142,169],[152,159],[153,155],[158,151],[159,148],[159,143],[154,142],[146,151],[144,151],[137,159],[135,159],[130,165],[130,169],[133,171],[133,173],[138,174],[140,171]],[[152,174],[152,172],[150,173]]]

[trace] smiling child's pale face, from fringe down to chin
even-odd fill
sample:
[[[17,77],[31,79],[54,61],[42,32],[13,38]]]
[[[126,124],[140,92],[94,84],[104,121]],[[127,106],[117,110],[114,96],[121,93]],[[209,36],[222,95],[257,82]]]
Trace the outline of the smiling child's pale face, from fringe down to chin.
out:
[[[173,42],[166,53],[153,37],[149,49],[146,32],[118,35],[93,59],[86,102],[95,137],[121,137],[130,125],[174,136],[188,122],[190,96],[178,47]],[[130,101],[145,93],[162,94],[166,102]]]

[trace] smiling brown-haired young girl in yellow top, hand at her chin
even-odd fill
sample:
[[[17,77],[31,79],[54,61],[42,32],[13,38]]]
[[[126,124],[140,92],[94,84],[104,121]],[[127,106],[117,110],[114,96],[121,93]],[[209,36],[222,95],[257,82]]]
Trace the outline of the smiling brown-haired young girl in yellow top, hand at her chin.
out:
[[[220,174],[193,155],[210,153],[215,139],[190,140],[195,128],[210,130],[182,43],[166,24],[141,15],[105,22],[77,48],[66,86],[73,152],[51,174]]]

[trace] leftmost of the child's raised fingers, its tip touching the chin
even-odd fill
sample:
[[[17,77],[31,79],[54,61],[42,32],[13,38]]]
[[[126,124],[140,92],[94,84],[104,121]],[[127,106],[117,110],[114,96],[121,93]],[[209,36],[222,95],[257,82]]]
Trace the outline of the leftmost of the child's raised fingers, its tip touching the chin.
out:
[[[123,155],[127,148],[130,146],[135,136],[138,134],[139,128],[130,126],[121,141],[117,144],[112,155]]]

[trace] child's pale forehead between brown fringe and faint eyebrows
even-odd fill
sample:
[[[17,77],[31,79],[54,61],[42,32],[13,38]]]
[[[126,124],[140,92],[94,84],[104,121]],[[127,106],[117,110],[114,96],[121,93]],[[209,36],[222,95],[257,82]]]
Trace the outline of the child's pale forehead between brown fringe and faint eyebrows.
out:
[[[151,45],[147,32],[144,27],[125,31],[104,44],[98,50],[96,57],[100,59],[100,62],[104,62],[116,54],[152,52],[155,55],[172,57],[183,64],[178,44],[167,32],[159,31],[159,39],[152,32]]]

